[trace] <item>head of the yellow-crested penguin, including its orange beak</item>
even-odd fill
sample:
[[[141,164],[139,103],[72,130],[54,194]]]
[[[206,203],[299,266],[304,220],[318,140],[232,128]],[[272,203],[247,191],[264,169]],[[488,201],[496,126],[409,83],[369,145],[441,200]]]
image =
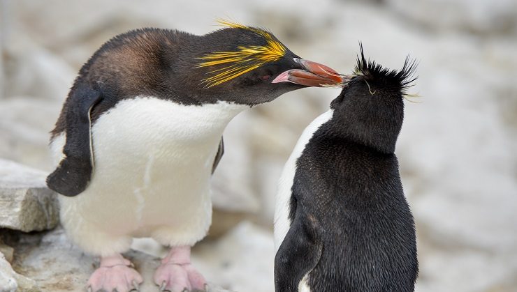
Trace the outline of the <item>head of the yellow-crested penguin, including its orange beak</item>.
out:
[[[306,86],[342,82],[337,72],[301,59],[265,29],[221,24],[228,27],[196,38],[182,56],[184,85],[196,89],[196,98],[257,105]]]

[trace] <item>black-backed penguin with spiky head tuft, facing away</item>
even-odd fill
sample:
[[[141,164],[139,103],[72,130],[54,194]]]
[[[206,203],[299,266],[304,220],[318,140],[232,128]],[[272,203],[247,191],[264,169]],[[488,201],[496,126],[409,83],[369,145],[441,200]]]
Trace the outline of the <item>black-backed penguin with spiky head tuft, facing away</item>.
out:
[[[366,61],[303,131],[275,203],[275,291],[414,291],[414,219],[395,143],[416,63]]]

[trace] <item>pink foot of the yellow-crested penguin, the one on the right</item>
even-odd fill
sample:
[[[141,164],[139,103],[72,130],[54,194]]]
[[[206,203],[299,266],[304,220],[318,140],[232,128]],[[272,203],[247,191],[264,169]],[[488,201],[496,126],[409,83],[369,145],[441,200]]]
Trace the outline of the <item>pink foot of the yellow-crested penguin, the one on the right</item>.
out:
[[[207,291],[207,284],[190,263],[190,247],[173,247],[154,272],[160,291]]]

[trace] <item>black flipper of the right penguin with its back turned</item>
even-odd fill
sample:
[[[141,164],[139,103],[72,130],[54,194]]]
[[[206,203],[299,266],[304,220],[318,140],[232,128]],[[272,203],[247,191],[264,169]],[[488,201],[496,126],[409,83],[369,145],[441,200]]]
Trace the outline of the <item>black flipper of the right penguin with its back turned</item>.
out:
[[[275,291],[297,292],[300,281],[314,269],[323,241],[312,215],[297,212],[275,256]]]

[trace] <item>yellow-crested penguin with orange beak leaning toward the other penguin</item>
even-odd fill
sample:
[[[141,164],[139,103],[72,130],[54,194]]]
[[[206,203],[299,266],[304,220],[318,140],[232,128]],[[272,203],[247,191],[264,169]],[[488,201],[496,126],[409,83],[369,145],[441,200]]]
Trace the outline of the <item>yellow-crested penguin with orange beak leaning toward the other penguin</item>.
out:
[[[212,220],[210,178],[222,133],[245,109],[307,86],[342,82],[270,31],[235,22],[203,36],[137,29],[102,45],[80,69],[51,132],[68,238],[100,256],[88,291],[130,291],[143,278],[122,256],[132,238],[170,247],[161,291],[204,291],[191,247]]]

